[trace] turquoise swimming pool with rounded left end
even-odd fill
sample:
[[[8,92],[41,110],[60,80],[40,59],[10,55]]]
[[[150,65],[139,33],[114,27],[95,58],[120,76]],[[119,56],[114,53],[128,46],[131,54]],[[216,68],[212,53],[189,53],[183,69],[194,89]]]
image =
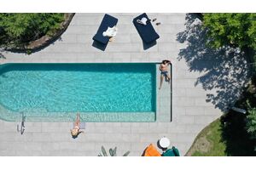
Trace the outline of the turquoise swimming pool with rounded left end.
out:
[[[155,64],[0,65],[0,117],[154,122]]]

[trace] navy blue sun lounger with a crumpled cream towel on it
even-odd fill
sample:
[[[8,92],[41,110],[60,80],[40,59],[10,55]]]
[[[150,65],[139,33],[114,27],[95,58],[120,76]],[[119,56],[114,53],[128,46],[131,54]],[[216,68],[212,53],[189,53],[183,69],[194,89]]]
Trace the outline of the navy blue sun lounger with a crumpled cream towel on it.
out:
[[[118,22],[118,19],[114,18],[113,16],[110,16],[109,14],[105,14],[101,26],[99,27],[96,35],[92,38],[96,42],[101,42],[103,44],[108,44],[110,37],[104,37],[102,35],[103,31],[107,31],[108,27],[116,26]]]

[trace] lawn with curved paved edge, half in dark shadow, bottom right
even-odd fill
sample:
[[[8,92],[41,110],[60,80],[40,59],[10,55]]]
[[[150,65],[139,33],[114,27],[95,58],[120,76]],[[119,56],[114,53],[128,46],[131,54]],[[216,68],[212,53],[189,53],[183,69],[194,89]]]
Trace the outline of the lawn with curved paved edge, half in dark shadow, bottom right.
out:
[[[256,156],[245,123],[245,115],[224,114],[198,134],[186,156]]]

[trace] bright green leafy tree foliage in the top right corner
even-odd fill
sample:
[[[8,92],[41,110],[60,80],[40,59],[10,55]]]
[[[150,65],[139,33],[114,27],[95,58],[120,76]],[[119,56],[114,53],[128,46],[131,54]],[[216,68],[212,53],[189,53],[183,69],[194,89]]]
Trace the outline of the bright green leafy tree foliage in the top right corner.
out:
[[[256,49],[256,14],[204,14],[203,19],[212,47]]]

